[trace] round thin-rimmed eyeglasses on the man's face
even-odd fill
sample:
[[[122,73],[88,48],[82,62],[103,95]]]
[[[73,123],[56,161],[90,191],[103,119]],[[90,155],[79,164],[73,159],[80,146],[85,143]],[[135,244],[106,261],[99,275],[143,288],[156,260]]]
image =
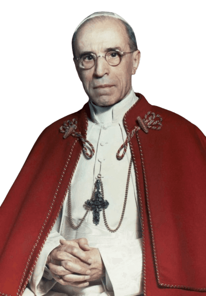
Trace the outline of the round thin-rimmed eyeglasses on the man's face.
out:
[[[97,56],[95,53],[86,52],[76,60],[79,62],[79,67],[82,69],[91,69],[95,65],[97,58],[100,56],[104,57],[110,66],[118,66],[121,63],[123,56],[132,52],[134,51],[122,52],[116,49],[106,52],[105,56]]]

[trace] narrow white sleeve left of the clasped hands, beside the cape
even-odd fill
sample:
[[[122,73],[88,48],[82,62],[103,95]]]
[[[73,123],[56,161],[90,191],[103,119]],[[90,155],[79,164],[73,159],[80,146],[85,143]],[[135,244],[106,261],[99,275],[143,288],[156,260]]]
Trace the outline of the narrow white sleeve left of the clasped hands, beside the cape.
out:
[[[59,240],[64,239],[58,232],[61,220],[61,214],[58,216],[54,227],[49,233],[46,242],[41,250],[41,254],[38,258],[35,269],[29,280],[29,288],[34,292],[36,296],[42,296],[46,294],[56,284],[56,281],[52,278],[51,273],[47,267],[45,267],[48,254],[60,245]]]

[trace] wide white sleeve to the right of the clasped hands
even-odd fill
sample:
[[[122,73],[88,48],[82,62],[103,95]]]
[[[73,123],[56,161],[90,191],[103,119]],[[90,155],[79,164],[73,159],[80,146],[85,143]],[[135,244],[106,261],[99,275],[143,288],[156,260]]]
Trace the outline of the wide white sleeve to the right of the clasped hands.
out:
[[[115,296],[143,294],[142,239],[98,249],[106,268],[107,291]]]

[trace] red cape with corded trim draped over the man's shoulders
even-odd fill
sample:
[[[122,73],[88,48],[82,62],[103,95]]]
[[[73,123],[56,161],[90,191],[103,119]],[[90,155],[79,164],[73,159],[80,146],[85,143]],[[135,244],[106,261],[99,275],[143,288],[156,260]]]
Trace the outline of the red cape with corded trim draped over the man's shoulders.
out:
[[[138,131],[130,148],[143,223],[144,296],[206,293],[206,137],[181,116],[139,100],[124,116],[131,132],[148,111],[163,118],[161,130]],[[86,134],[88,103],[37,139],[0,207],[0,295],[21,295],[43,243],[61,210],[82,144],[59,132],[78,120]]]

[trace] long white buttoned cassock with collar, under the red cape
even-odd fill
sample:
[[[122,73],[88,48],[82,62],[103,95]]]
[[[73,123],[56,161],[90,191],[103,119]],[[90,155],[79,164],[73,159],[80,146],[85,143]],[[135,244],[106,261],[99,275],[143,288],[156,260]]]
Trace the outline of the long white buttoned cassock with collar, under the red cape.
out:
[[[123,211],[126,179],[131,157],[130,150],[122,160],[116,153],[126,139],[123,117],[137,101],[131,87],[130,93],[119,103],[109,107],[98,107],[89,102],[91,118],[88,119],[87,140],[95,154],[87,159],[82,153],[75,170],[72,185],[72,217],[77,225],[82,219],[84,202],[91,198],[96,176],[100,172],[104,188],[104,199],[109,202],[105,210],[108,224],[116,228]],[[66,156],[65,156],[66,159]],[[29,288],[37,296],[136,296],[143,294],[142,283],[142,233],[138,211],[135,172],[132,164],[129,190],[123,222],[117,232],[111,233],[104,225],[102,211],[100,222],[93,223],[89,211],[81,227],[71,228],[68,219],[68,196],[62,211],[49,234],[29,281]],[[45,267],[48,254],[60,239],[86,238],[90,247],[98,248],[106,268],[105,277],[89,283],[88,287],[77,288],[57,283]],[[62,294],[63,293],[63,294]],[[28,288],[23,296],[34,295]]]

